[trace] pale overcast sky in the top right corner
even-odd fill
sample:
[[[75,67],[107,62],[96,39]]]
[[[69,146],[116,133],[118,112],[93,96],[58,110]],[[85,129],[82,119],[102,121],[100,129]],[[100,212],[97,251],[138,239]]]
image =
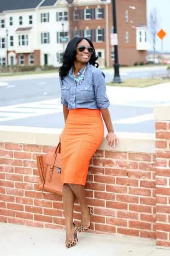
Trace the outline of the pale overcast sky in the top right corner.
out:
[[[170,0],[147,0],[147,20],[149,20],[149,13],[153,7],[158,9],[159,17],[161,18],[159,29],[164,29],[167,33],[163,39],[164,51],[170,52]],[[153,49],[150,40],[148,40],[148,49]],[[156,40],[156,50],[161,51],[161,39],[158,37]]]

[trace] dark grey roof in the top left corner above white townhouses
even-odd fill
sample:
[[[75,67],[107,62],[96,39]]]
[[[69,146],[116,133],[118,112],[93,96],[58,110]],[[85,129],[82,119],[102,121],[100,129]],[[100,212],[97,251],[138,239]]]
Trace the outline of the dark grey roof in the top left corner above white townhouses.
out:
[[[2,0],[0,1],[0,12],[36,8],[42,0]]]

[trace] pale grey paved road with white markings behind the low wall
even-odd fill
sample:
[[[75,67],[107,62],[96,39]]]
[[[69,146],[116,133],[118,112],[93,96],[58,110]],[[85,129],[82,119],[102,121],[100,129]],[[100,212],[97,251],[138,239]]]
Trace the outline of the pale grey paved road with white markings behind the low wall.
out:
[[[140,73],[135,68],[123,70],[131,75],[133,72]],[[140,70],[145,72],[145,69]],[[111,81],[111,71],[111,69],[105,70],[106,81]],[[164,71],[164,67],[161,67],[161,71]],[[0,125],[63,128],[58,76],[56,74],[48,74],[47,77],[32,76],[32,78],[20,76],[19,79],[6,77],[3,81],[0,80]],[[146,89],[125,87],[120,89],[122,91],[119,92],[119,87],[107,87],[111,103],[109,110],[115,130],[154,133],[153,105],[165,103],[167,99],[158,97],[152,101],[150,95],[147,100],[144,96],[143,99],[139,98],[135,101],[134,90],[136,89],[138,95]]]

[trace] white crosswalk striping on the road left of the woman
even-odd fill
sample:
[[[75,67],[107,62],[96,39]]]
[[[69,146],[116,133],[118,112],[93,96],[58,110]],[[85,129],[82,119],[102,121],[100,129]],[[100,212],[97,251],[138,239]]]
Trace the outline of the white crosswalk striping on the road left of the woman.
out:
[[[0,107],[0,122],[62,112],[61,98]]]

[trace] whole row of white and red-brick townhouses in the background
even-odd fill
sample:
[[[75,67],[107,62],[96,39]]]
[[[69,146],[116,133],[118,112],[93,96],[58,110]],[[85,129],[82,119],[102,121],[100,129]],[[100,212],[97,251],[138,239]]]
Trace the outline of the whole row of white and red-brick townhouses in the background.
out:
[[[119,63],[145,62],[146,0],[116,0]],[[111,0],[6,0],[0,5],[0,65],[59,66],[68,41],[85,36],[100,67],[111,67],[114,51]]]

